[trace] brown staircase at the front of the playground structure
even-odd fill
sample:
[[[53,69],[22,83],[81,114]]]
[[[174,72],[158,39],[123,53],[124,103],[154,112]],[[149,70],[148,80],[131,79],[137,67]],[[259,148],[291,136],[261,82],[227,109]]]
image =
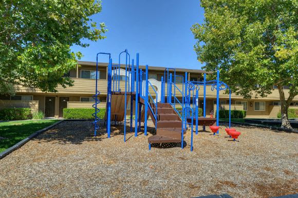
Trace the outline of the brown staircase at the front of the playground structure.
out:
[[[148,108],[149,115],[155,125],[156,112],[154,104],[150,104],[153,112]],[[148,138],[148,143],[181,142],[182,121],[169,103],[157,103],[156,135]],[[185,131],[183,132],[185,134]]]

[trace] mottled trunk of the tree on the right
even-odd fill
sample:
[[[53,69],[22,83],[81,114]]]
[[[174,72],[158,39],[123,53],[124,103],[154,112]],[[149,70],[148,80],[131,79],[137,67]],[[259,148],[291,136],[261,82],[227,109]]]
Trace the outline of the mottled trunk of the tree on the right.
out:
[[[288,118],[288,109],[289,102],[285,99],[284,87],[282,85],[277,85],[278,92],[280,92],[280,100],[281,100],[281,116],[282,116],[282,128],[293,130],[289,118]]]

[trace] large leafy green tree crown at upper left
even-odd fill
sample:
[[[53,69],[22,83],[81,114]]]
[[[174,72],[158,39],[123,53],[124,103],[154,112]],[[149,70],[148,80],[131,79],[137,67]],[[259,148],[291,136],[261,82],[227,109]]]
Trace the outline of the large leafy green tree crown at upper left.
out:
[[[12,85],[57,92],[72,86],[63,75],[77,65],[81,53],[72,45],[87,47],[83,39],[103,39],[105,25],[89,17],[101,12],[95,0],[3,0],[0,3],[0,94]]]

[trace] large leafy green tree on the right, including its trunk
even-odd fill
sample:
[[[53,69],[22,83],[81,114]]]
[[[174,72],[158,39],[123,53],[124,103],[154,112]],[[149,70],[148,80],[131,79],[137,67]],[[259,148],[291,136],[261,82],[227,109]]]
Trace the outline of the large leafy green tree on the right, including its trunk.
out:
[[[219,68],[232,92],[247,99],[266,97],[277,87],[282,127],[292,129],[288,108],[298,94],[297,1],[202,0],[201,7],[204,22],[191,30],[204,69]]]

